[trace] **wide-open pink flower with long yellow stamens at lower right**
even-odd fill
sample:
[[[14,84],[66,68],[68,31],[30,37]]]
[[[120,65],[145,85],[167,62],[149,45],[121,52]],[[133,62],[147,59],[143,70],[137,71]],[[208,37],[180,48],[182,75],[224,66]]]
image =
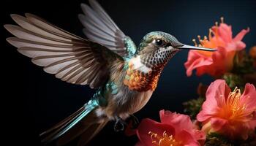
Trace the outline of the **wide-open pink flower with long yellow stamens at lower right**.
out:
[[[255,86],[247,83],[241,94],[238,88],[232,92],[225,80],[212,82],[197,120],[203,122],[202,130],[207,133],[247,139],[249,131],[256,128]]]

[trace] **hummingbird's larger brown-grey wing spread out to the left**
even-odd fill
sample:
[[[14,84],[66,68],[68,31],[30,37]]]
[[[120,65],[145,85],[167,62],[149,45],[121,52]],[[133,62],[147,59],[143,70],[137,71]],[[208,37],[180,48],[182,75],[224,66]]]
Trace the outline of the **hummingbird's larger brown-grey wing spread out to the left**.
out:
[[[7,38],[7,42],[61,80],[98,88],[108,79],[110,63],[121,59],[107,47],[70,34],[35,15],[11,17],[19,26],[4,26],[15,36]]]

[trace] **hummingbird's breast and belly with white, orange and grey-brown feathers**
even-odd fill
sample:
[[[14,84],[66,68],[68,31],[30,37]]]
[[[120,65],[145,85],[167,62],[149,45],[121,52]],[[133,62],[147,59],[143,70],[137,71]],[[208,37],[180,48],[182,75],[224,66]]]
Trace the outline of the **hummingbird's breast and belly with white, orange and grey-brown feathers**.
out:
[[[139,58],[132,58],[124,64],[113,64],[105,97],[108,117],[118,115],[127,118],[138,112],[150,99],[157,87],[160,72],[141,64]]]

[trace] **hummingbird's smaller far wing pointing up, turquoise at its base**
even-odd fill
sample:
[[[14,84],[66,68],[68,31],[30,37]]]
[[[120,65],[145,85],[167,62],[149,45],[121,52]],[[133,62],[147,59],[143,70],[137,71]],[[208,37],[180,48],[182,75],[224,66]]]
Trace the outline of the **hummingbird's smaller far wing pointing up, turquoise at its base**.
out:
[[[86,37],[123,57],[134,55],[136,46],[132,39],[124,35],[97,1],[89,0],[89,4],[91,7],[81,4],[84,15],[78,15]]]

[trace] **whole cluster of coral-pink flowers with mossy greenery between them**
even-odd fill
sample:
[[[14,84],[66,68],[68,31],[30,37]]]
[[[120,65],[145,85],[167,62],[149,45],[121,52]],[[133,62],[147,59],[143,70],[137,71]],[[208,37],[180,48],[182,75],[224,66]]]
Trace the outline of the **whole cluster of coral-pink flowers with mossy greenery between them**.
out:
[[[196,46],[215,52],[190,50],[187,76],[209,74],[211,85],[199,85],[200,97],[184,103],[185,112],[161,110],[161,122],[143,119],[135,130],[144,146],[256,145],[256,46],[245,52],[241,41],[249,28],[233,38],[231,26],[223,22],[209,29],[208,38],[198,36]],[[250,83],[247,83],[250,82]],[[192,119],[192,120],[191,120]]]

